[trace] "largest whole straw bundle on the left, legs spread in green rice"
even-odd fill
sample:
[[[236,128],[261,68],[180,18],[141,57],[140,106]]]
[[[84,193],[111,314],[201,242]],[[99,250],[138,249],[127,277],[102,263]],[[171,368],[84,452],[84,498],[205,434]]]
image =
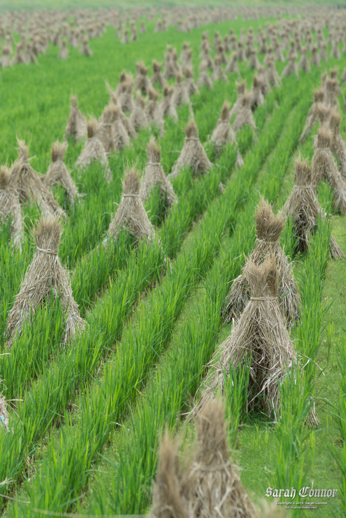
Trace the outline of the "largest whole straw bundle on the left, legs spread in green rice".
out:
[[[41,217],[33,229],[36,251],[16,296],[15,304],[8,313],[6,336],[9,348],[15,336],[21,334],[22,326],[30,313],[35,313],[52,291],[54,296],[60,296],[64,319],[66,319],[64,343],[84,330],[85,322],[79,316],[68,272],[62,266],[58,256],[61,233],[62,227],[57,216],[48,219]]]

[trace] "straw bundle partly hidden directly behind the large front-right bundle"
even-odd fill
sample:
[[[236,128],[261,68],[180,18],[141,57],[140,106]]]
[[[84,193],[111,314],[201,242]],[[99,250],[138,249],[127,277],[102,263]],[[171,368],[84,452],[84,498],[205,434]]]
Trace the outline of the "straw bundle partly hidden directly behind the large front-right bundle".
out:
[[[282,215],[275,216],[269,203],[263,198],[257,207],[255,248],[250,254],[250,261],[260,265],[266,257],[274,256],[278,268],[279,304],[284,318],[289,324],[299,320],[299,306],[301,303],[298,287],[293,279],[292,267],[280,245],[280,237],[285,226]],[[251,292],[246,281],[245,272],[234,279],[231,290],[226,297],[223,310],[225,322],[234,317],[240,317]]]

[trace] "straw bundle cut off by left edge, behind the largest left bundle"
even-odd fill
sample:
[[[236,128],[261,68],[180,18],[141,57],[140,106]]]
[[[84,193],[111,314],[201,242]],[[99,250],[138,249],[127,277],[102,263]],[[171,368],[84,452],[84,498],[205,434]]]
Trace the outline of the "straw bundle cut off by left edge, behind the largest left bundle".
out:
[[[17,178],[10,174],[6,166],[0,169],[0,222],[8,222],[11,217],[11,240],[13,246],[21,250],[23,237],[22,211],[17,190]]]

